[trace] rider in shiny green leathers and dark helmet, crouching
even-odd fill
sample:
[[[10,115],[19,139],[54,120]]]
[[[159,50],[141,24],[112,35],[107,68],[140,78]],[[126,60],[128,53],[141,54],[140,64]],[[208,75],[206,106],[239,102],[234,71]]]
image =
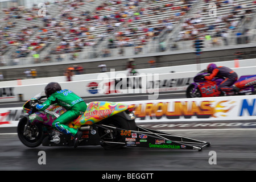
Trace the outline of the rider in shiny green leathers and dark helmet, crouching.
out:
[[[36,105],[36,109],[45,110],[51,104],[55,103],[67,109],[65,113],[61,114],[52,123],[52,127],[64,134],[70,134],[75,137],[74,147],[77,147],[79,139],[82,137],[82,132],[69,127],[67,124],[79,117],[79,115],[84,114],[87,108],[86,103],[71,90],[61,89],[61,86],[57,82],[50,82],[44,91],[47,100],[43,104]]]

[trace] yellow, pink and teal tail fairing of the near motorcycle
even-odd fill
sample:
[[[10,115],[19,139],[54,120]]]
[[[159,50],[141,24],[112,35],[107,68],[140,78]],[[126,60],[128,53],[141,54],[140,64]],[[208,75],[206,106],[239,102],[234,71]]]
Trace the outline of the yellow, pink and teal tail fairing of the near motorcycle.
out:
[[[102,119],[114,114],[133,108],[133,105],[120,104],[117,102],[90,102],[83,115],[69,123],[69,127],[79,128],[81,125],[93,125]]]

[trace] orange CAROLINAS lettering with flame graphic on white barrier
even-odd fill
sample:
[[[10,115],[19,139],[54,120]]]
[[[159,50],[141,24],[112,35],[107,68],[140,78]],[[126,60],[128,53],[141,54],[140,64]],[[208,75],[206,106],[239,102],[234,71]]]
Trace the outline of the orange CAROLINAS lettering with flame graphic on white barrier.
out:
[[[146,119],[208,119],[226,117],[236,101],[174,101],[135,105],[134,114],[140,120]]]

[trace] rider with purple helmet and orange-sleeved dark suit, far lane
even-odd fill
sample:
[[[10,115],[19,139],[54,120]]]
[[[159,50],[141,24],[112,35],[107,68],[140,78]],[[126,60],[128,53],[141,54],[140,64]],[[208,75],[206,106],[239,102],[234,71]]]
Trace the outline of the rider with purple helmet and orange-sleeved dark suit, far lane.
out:
[[[239,92],[239,88],[233,86],[234,82],[237,81],[237,73],[228,67],[217,67],[216,64],[210,63],[207,67],[209,76],[205,76],[205,80],[212,80],[214,77],[224,77],[225,80],[218,85],[218,90],[222,92],[222,95],[225,95],[225,92]]]

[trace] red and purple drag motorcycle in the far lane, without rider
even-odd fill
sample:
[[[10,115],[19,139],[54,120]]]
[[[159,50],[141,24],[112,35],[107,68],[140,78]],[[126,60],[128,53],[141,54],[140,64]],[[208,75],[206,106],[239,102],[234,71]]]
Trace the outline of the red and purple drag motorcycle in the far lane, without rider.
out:
[[[208,76],[207,70],[203,70],[194,77],[194,81],[186,90],[187,98],[193,97],[217,97],[222,96],[218,90],[218,85],[224,81],[225,78],[214,77],[211,81],[205,80],[204,76]],[[256,94],[256,75],[241,76],[234,86],[240,88],[238,93],[226,92],[226,96]]]

